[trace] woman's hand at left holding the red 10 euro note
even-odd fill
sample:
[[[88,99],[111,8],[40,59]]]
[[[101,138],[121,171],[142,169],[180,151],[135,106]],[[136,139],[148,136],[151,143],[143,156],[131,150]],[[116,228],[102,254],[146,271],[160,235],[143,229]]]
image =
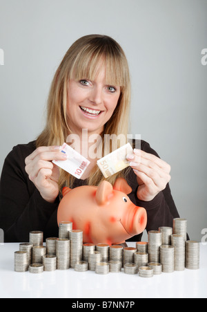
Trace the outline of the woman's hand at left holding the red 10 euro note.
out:
[[[60,152],[59,146],[37,147],[25,159],[26,172],[43,199],[54,203],[59,194],[59,167],[52,160],[66,160],[66,154]]]

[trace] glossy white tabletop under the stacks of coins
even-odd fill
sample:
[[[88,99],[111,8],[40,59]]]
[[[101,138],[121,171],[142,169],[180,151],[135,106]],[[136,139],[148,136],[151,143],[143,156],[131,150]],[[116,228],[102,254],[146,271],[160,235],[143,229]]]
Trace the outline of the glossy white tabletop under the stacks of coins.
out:
[[[135,243],[128,243],[135,247]],[[14,251],[19,244],[0,245],[1,298],[146,298],[207,297],[207,246],[200,243],[200,268],[161,273],[150,278],[139,275],[74,269],[32,274],[14,272]],[[77,300],[75,302],[77,302]]]

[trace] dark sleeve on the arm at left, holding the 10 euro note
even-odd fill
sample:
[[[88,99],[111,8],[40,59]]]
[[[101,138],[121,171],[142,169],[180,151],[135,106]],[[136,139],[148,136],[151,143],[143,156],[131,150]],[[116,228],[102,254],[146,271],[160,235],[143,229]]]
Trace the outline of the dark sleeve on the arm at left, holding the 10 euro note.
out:
[[[59,204],[45,201],[25,172],[31,145],[17,145],[4,161],[0,181],[0,228],[5,242],[28,241],[32,230],[44,231]]]

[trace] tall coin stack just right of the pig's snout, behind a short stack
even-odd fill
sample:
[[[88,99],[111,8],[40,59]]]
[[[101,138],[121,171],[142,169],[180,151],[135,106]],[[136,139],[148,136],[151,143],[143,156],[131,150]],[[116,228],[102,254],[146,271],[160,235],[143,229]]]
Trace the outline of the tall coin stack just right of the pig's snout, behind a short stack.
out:
[[[148,232],[148,257],[149,262],[159,262],[162,233],[157,230]]]

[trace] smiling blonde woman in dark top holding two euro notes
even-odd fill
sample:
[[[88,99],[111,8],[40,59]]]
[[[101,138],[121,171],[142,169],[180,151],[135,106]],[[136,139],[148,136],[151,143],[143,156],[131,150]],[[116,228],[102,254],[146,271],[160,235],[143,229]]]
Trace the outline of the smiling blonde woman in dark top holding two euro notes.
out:
[[[5,241],[28,241],[31,230],[43,230],[45,238],[58,235],[57,207],[64,185],[98,185],[103,179],[90,157],[90,166],[80,180],[59,169],[52,160],[66,159],[59,147],[70,135],[79,138],[88,131],[87,148],[93,138],[128,134],[130,75],[124,51],[114,39],[87,35],[78,39],[63,57],[48,96],[46,127],[37,140],[17,145],[6,157],[1,175],[0,228]],[[124,176],[132,187],[128,196],[146,208],[146,230],[172,226],[179,217],[170,194],[170,165],[141,140],[140,149],[127,156],[130,167],[107,180]],[[104,140],[101,140],[102,151]],[[86,146],[86,142],[84,142]],[[132,145],[136,145],[133,140]],[[118,145],[119,147],[119,145]],[[112,147],[110,147],[110,152]],[[85,151],[80,150],[83,154]],[[141,240],[141,235],[132,241]]]

